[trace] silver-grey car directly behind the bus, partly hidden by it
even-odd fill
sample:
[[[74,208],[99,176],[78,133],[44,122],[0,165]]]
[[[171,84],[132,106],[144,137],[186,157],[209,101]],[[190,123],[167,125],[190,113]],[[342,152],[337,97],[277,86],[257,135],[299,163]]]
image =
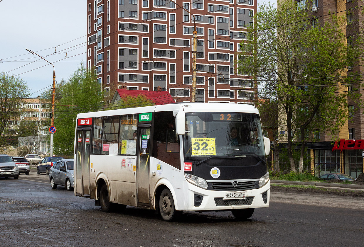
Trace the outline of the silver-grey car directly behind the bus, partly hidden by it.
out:
[[[73,163],[74,159],[61,159],[51,167],[49,179],[52,189],[56,189],[57,185],[62,185],[67,190],[75,187]]]

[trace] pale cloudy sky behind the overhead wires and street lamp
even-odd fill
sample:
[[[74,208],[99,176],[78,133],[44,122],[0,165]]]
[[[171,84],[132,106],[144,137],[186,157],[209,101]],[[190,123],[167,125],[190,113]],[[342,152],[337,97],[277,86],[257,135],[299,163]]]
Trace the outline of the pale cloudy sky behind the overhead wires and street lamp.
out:
[[[86,65],[86,12],[86,0],[0,0],[0,74],[23,78],[31,97],[52,88],[52,65],[29,49],[54,65],[56,81],[68,80]]]

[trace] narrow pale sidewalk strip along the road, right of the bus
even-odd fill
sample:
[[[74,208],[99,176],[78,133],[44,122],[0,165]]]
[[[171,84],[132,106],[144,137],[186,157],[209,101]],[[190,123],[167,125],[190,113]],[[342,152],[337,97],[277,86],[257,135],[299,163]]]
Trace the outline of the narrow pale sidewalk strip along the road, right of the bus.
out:
[[[283,180],[270,180],[270,183],[276,185],[314,185],[322,189],[364,191],[364,185],[351,185],[347,183],[322,183],[322,182],[301,182],[301,181],[283,181]]]

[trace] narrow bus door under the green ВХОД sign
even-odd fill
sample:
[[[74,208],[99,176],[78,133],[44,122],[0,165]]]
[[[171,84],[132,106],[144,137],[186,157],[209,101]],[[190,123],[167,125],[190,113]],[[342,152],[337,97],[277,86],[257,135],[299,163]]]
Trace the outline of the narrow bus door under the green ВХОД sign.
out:
[[[149,193],[149,164],[150,164],[150,126],[143,124],[138,126],[139,154],[137,164],[137,183],[138,183],[138,206],[150,206]]]

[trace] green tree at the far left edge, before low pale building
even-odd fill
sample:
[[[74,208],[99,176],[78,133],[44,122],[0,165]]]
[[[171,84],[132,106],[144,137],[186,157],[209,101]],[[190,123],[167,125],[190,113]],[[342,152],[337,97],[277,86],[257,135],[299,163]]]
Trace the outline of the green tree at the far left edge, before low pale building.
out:
[[[4,130],[8,121],[19,119],[20,100],[29,98],[30,90],[22,78],[8,73],[0,74],[0,147],[6,143]]]

